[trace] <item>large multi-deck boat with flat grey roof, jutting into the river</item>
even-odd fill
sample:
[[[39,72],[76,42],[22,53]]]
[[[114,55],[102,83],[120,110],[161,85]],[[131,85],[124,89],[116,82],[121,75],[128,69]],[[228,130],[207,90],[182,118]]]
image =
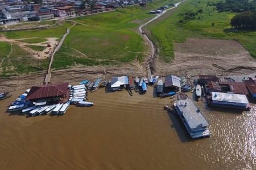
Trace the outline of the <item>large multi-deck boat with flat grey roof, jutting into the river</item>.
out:
[[[179,94],[174,108],[192,139],[210,136],[208,122],[187,95]]]

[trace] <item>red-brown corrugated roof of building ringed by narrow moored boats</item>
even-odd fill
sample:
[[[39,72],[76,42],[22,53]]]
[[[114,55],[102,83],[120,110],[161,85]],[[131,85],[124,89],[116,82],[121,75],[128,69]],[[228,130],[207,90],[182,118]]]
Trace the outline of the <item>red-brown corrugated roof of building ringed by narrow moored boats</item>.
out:
[[[43,99],[48,97],[57,97],[69,95],[68,83],[48,85],[48,86],[34,86],[31,87],[26,100]]]

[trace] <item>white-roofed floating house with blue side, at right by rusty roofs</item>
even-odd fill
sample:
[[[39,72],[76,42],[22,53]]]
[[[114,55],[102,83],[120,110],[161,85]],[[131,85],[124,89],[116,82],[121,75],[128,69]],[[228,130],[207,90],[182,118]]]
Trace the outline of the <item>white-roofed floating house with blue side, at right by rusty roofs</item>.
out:
[[[208,105],[224,108],[250,109],[250,103],[245,95],[212,92],[211,96],[207,96]]]

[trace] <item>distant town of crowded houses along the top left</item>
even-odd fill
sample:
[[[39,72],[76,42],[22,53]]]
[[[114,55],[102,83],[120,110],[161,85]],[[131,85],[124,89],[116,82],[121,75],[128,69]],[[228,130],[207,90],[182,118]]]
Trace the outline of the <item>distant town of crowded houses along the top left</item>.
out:
[[[0,0],[0,24],[72,18],[146,3],[147,0]]]

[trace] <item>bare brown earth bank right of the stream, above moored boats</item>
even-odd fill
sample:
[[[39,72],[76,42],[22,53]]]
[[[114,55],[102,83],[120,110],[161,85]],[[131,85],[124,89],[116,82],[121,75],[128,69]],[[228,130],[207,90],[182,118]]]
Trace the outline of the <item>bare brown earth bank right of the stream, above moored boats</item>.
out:
[[[237,41],[187,39],[175,43],[171,63],[156,61],[156,74],[234,75],[256,71],[255,59]]]

